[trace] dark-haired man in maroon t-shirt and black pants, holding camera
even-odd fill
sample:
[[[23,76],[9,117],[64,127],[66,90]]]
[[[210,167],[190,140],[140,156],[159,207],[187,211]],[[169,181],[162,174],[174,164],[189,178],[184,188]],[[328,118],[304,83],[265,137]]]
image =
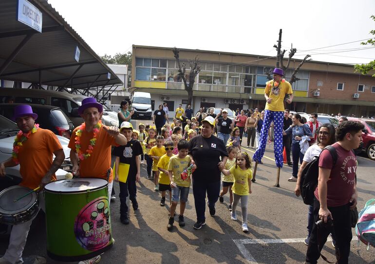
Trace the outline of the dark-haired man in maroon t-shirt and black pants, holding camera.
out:
[[[306,252],[306,264],[316,264],[330,232],[336,237],[338,264],[348,264],[352,240],[351,212],[357,203],[356,155],[364,126],[359,122],[342,122],[336,129],[337,160],[331,151],[323,149],[319,156],[318,187],[314,192],[315,223]],[[331,224],[333,223],[333,227]]]

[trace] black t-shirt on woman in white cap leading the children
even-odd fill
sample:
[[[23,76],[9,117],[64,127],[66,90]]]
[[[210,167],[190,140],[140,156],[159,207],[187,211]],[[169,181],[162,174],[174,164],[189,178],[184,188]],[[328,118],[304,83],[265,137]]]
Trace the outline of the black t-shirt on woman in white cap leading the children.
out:
[[[197,169],[193,172],[194,181],[216,182],[220,181],[218,163],[220,157],[227,157],[224,142],[218,137],[204,138],[198,135],[189,141],[189,154],[193,156]]]

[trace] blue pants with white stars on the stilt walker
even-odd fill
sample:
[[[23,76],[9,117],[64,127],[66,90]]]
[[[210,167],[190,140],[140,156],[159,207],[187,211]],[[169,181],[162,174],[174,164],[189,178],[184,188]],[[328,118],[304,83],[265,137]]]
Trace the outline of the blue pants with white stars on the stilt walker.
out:
[[[254,153],[253,161],[259,162],[264,155],[264,149],[267,144],[268,129],[273,121],[275,130],[274,152],[276,166],[282,168],[282,127],[284,125],[284,112],[283,111],[264,111],[264,122],[261,130],[261,140],[257,151]]]

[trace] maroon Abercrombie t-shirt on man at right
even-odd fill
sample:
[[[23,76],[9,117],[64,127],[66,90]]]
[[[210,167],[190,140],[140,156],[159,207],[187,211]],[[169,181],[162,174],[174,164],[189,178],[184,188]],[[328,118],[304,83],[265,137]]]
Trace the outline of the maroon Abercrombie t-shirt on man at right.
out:
[[[356,155],[352,150],[347,151],[337,142],[332,145],[337,151],[337,162],[334,167],[329,150],[324,149],[319,156],[319,167],[331,169],[327,182],[327,206],[334,207],[349,203],[356,184]],[[318,187],[315,197],[319,200]]]

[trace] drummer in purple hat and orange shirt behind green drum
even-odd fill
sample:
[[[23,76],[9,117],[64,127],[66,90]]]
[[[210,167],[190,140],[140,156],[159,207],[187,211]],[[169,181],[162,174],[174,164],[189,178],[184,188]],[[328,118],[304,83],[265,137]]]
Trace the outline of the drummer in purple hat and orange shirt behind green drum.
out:
[[[73,174],[83,178],[101,178],[108,180],[108,194],[112,193],[113,171],[111,168],[111,146],[126,145],[127,140],[116,126],[101,123],[103,106],[94,98],[82,100],[78,114],[84,123],[76,127],[70,138],[70,160]],[[79,165],[78,165],[79,161]],[[108,199],[110,202],[111,199]],[[100,261],[100,255],[79,264],[94,264]]]

